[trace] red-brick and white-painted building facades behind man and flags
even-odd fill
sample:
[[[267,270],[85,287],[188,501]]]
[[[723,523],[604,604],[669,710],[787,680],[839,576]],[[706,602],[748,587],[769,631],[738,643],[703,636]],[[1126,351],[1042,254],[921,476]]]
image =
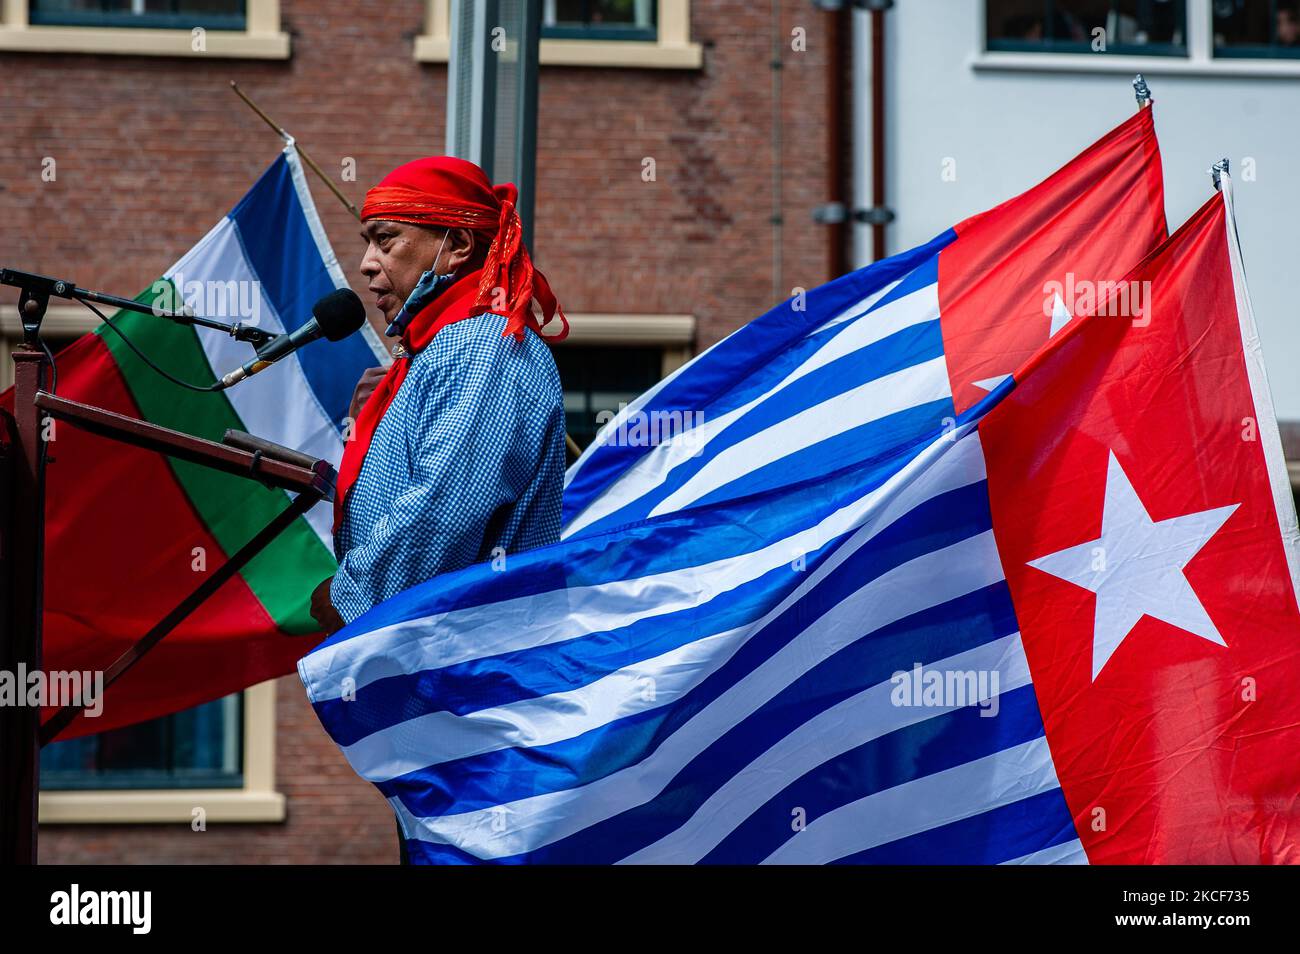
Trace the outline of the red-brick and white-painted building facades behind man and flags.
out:
[[[863,244],[835,203],[874,170],[850,156],[883,165],[884,247],[900,251],[1119,122],[1136,71],[1154,91],[1173,227],[1209,194],[1213,160],[1240,169],[1273,391],[1300,420],[1291,4],[896,0],[875,19],[881,140],[857,152],[852,107],[868,91],[852,60],[871,27],[850,5],[543,0],[534,251],[573,325],[555,355],[580,442],[601,411],[853,264]],[[281,147],[231,79],[359,205],[393,166],[442,151],[448,25],[448,0],[0,0],[0,263],[147,287]],[[356,222],[311,186],[364,292]],[[12,291],[0,351],[17,334]],[[91,326],[77,308],[47,320],[65,338]],[[1300,432],[1284,432],[1300,456]],[[43,862],[396,857],[391,814],[295,676],[70,743],[46,769]]]

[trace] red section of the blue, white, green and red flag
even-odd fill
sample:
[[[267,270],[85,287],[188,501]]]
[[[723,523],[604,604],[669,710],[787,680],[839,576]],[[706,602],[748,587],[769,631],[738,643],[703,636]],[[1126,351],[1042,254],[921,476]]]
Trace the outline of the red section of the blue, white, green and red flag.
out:
[[[58,354],[58,393],[140,417],[104,341],[87,334]],[[0,407],[13,411],[13,389]],[[168,459],[60,422],[46,472],[47,671],[103,671],[194,589],[194,550],[209,569],[228,556],[177,482]],[[142,582],[142,581],[147,581]],[[318,633],[285,636],[248,589],[228,580],[130,672],[95,719],[58,738],[155,719],[292,672]],[[42,719],[53,715],[46,708]]]

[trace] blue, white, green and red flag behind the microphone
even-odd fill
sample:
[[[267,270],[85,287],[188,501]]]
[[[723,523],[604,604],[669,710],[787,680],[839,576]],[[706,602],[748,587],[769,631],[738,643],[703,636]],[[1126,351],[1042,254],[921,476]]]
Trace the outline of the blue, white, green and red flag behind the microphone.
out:
[[[346,279],[292,146],[140,300],[294,330]],[[113,317],[170,374],[209,385],[244,342],[133,312]],[[361,372],[384,360],[368,326],[303,348],[238,386],[199,394],[150,369],[107,326],[57,355],[58,394],[220,441],[238,428],[335,464]],[[3,398],[13,407],[12,390]],[[44,665],[100,671],[290,502],[282,490],[127,447],[61,422],[46,495]],[[334,572],[328,506],[311,509],[185,620],[60,738],[176,712],[291,672],[317,637],[312,589]],[[300,638],[290,638],[298,636]],[[48,714],[47,714],[48,715]]]

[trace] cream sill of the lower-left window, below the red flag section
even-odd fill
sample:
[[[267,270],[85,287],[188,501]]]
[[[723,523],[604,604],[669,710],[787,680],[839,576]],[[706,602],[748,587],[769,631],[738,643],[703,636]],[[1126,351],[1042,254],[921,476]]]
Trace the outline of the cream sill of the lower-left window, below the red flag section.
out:
[[[205,823],[283,821],[285,797],[246,789],[134,792],[42,792],[40,824],[190,824],[194,810]]]

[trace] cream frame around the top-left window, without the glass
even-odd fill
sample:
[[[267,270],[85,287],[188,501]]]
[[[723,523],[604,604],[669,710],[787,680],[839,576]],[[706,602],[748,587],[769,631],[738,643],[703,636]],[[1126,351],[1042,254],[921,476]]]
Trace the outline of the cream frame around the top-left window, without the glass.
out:
[[[246,60],[287,60],[289,34],[281,29],[280,0],[246,0],[243,30],[212,29],[205,49],[191,47],[191,30],[144,26],[44,26],[29,19],[29,0],[0,0],[0,52],[112,53]]]

